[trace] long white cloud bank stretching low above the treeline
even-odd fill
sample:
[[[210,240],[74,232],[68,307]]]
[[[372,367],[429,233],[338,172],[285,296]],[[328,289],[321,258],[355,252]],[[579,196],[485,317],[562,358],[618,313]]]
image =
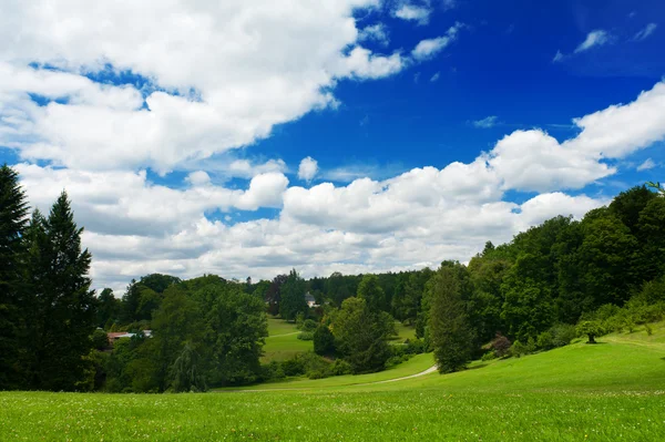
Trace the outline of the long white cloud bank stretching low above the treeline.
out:
[[[151,184],[145,172],[17,168],[40,208],[68,189],[85,226],[96,287],[122,289],[151,271],[238,278],[273,277],[291,267],[305,276],[398,271],[464,261],[488,239],[502,243],[549,217],[581,217],[606,204],[561,191],[614,173],[604,158],[664,140],[665,122],[651,116],[663,115],[663,105],[665,83],[657,83],[632,103],[575,120],[581,133],[571,140],[515,131],[469,164],[413,168],[382,181],[361,177],[345,186],[288,187],[286,176],[273,172],[255,176],[246,189],[231,189],[194,173],[190,187],[172,189]],[[515,204],[504,199],[507,191],[539,194]],[[259,207],[280,209],[279,216],[233,226],[206,217]]]

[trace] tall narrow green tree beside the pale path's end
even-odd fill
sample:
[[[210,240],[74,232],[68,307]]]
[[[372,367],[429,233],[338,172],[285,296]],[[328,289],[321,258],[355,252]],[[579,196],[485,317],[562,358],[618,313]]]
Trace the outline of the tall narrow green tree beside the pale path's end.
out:
[[[456,268],[441,266],[432,277],[429,311],[429,335],[441,373],[463,369],[473,350],[473,331],[461,291]]]

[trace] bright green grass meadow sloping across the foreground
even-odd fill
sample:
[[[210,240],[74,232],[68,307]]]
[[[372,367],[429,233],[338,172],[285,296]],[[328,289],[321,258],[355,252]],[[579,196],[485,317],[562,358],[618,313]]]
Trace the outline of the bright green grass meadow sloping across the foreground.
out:
[[[376,373],[270,384],[289,391],[6,392],[0,440],[665,440],[665,328],[390,383],[368,383]],[[391,377],[430,362],[418,358]]]

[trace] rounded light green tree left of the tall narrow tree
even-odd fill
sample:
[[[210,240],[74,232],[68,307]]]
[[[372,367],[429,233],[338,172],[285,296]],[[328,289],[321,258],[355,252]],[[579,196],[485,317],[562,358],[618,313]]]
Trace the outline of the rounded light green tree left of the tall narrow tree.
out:
[[[383,317],[385,318],[385,317]],[[365,299],[348,298],[334,315],[331,323],[335,348],[355,373],[381,370],[390,350],[385,319],[371,311]]]

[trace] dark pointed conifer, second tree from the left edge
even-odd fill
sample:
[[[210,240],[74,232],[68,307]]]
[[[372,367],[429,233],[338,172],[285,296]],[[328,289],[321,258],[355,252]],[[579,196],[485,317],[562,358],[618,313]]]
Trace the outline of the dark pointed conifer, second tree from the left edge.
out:
[[[81,249],[81,233],[66,193],[48,219],[32,217],[29,275],[33,296],[33,387],[76,390],[89,363],[95,323],[94,291],[88,277],[91,255]]]

